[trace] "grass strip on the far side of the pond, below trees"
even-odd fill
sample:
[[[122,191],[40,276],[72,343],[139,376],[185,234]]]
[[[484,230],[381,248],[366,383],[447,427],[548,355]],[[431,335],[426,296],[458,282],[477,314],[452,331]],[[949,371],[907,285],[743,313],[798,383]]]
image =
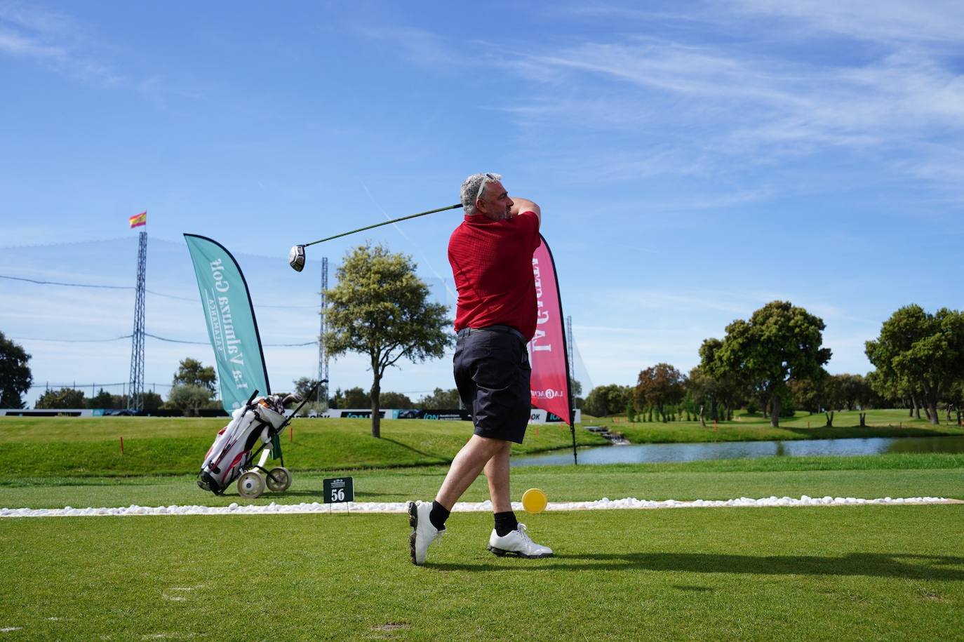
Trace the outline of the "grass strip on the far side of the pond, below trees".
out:
[[[869,411],[867,426],[861,427],[859,413],[840,412],[834,415],[834,427],[825,427],[820,415],[797,413],[793,418],[781,418],[780,427],[770,426],[769,417],[760,413],[740,413],[733,421],[712,422],[706,427],[699,421],[635,421],[625,416],[583,417],[583,425],[596,424],[624,435],[633,443],[675,443],[698,441],[770,441],[817,440],[868,437],[944,437],[964,435],[964,428],[956,423],[931,424],[926,419],[911,419],[907,411]]]

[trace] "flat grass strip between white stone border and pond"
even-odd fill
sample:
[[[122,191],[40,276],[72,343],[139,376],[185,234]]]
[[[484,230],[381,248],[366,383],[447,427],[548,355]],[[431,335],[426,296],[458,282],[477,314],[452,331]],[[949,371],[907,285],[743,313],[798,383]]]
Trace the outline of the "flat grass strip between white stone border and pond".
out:
[[[231,502],[268,504],[321,501],[322,479],[336,474],[355,478],[357,501],[405,501],[435,495],[444,467],[300,471],[291,488],[244,500],[234,486],[228,494],[205,493],[193,475],[141,477],[0,478],[0,507],[169,506]],[[947,496],[964,498],[964,455],[916,454],[876,457],[773,457],[686,464],[522,467],[512,470],[513,496],[541,488],[550,501],[586,501],[633,496],[639,499],[730,499],[810,495]],[[465,501],[488,498],[484,479]]]

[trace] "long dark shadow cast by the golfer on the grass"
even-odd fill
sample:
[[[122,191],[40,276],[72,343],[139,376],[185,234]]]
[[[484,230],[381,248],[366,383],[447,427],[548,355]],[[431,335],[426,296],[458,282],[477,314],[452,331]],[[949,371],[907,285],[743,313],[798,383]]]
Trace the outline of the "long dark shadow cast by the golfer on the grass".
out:
[[[906,553],[850,553],[843,557],[805,555],[722,555],[714,553],[586,553],[546,560],[518,560],[523,571],[668,571],[747,575],[864,575],[964,581],[964,557]],[[432,564],[440,571],[498,571],[505,564]]]

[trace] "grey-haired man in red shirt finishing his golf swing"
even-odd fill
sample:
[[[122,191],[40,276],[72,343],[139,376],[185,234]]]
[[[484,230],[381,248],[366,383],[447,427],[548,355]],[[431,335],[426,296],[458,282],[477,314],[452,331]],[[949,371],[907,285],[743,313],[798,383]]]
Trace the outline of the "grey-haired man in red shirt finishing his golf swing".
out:
[[[408,502],[412,562],[425,563],[445,520],[469,485],[485,471],[496,555],[549,557],[516,521],[509,499],[509,449],[522,443],[530,415],[529,355],[536,330],[532,253],[539,247],[539,205],[510,199],[499,174],[472,174],[462,183],[465,220],[448,241],[459,302],[455,316],[455,385],[471,411],[474,434],[452,461],[432,503]]]

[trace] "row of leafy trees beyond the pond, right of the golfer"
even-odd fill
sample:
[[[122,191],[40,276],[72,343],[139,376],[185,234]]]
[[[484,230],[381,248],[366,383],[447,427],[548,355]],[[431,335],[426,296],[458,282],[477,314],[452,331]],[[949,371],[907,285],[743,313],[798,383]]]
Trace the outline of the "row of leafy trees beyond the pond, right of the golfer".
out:
[[[920,306],[898,309],[880,336],[867,342],[877,369],[866,376],[830,375],[823,365],[831,352],[822,347],[823,321],[790,302],[774,301],[748,320],[738,319],[722,339],[700,346],[700,364],[684,375],[669,363],[641,371],[635,387],[594,388],[586,397],[590,415],[642,413],[670,420],[687,415],[730,419],[736,408],[759,408],[779,425],[794,409],[868,408],[921,411],[939,421],[938,404],[948,413],[964,406],[964,314]],[[863,417],[861,417],[863,421]]]

